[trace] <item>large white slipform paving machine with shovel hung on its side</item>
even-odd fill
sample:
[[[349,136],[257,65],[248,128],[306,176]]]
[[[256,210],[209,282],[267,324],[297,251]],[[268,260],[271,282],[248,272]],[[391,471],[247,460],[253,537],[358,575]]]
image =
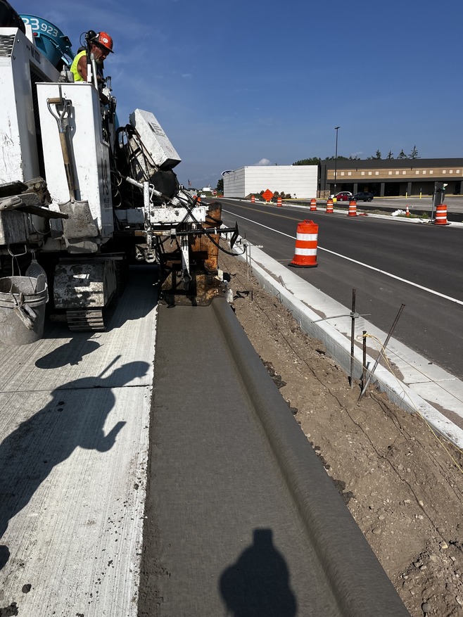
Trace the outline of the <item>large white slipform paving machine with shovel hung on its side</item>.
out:
[[[18,27],[17,17],[0,21],[0,277],[42,267],[50,312],[72,330],[106,327],[130,262],[158,265],[147,282],[171,305],[225,293],[220,235],[233,245],[238,229],[221,228],[220,203],[179,186],[179,155],[153,113],[136,109],[118,127],[93,55],[89,81],[74,83],[68,37],[34,15]]]

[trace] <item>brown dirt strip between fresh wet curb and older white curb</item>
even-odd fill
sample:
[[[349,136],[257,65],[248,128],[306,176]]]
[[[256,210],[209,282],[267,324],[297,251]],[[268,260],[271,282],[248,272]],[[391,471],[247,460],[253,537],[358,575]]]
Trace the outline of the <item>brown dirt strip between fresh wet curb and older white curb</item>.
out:
[[[220,254],[236,317],[412,617],[463,616],[463,454],[360,384],[246,265]]]

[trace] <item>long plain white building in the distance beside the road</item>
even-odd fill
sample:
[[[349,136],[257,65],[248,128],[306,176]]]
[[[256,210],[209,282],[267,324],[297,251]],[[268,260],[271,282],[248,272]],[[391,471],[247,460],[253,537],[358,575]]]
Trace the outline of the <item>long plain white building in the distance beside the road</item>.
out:
[[[247,165],[224,175],[225,197],[284,191],[297,198],[317,197],[317,165]]]

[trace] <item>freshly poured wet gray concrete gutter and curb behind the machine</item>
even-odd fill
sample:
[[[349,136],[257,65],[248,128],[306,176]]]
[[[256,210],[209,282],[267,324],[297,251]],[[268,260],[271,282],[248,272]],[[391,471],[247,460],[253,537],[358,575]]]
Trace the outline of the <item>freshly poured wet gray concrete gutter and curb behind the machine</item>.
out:
[[[139,617],[409,615],[224,298],[160,307],[150,431]]]

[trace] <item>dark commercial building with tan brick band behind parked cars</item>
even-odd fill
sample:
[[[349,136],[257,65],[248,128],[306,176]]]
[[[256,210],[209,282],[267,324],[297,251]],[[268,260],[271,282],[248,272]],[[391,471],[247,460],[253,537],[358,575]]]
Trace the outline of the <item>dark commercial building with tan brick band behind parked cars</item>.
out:
[[[381,197],[427,196],[434,193],[436,182],[447,185],[448,195],[459,195],[462,180],[463,158],[322,160],[318,196],[339,191],[370,191]]]

